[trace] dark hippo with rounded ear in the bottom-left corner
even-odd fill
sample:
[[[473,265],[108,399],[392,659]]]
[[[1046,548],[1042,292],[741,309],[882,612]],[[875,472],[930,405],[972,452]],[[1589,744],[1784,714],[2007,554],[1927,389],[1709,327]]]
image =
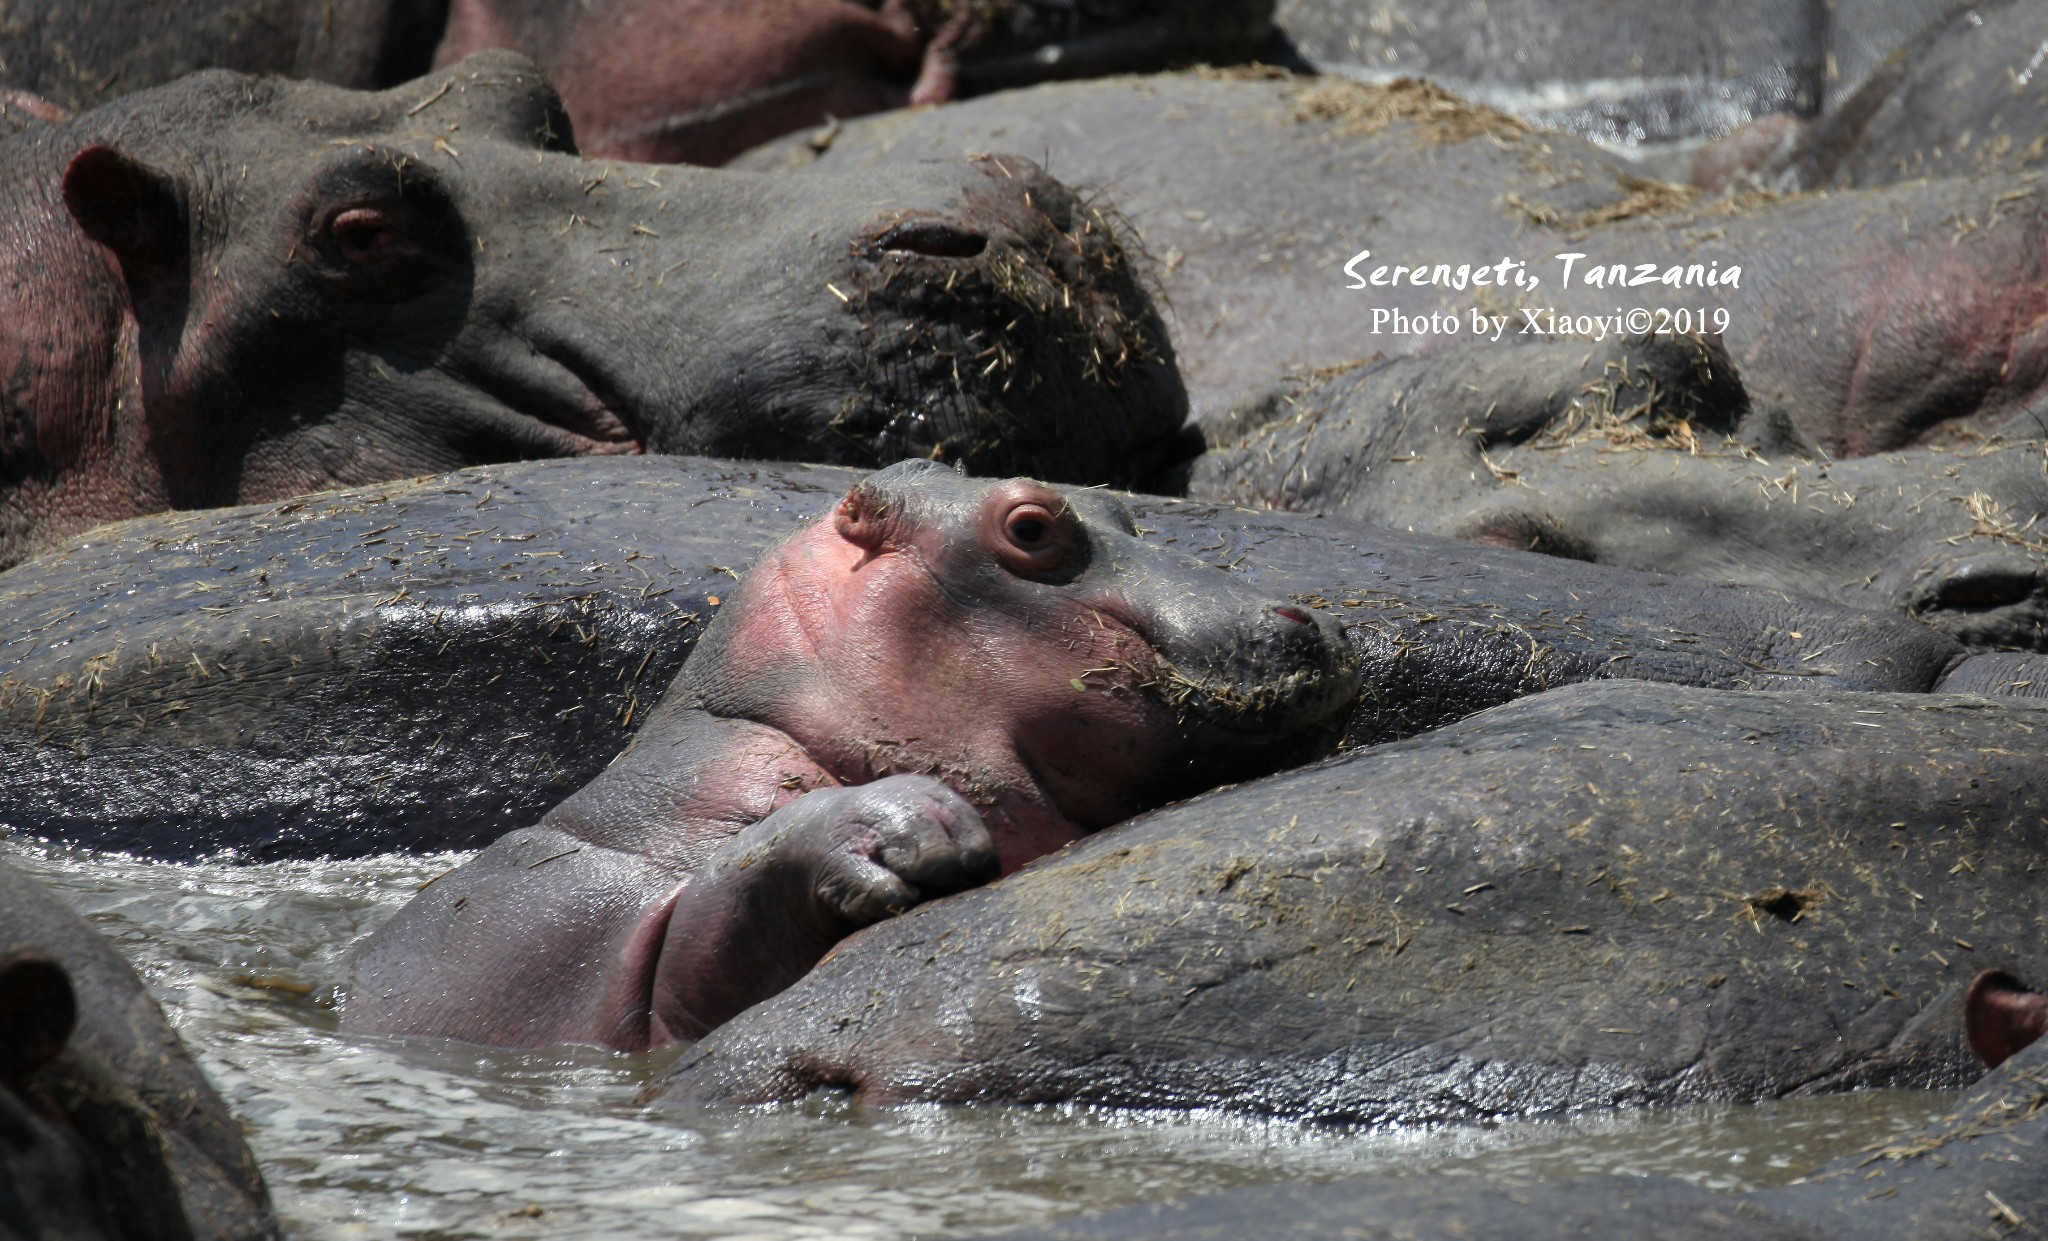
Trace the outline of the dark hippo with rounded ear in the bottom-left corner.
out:
[[[135,971],[4,858],[0,1237],[276,1237],[242,1130]]]

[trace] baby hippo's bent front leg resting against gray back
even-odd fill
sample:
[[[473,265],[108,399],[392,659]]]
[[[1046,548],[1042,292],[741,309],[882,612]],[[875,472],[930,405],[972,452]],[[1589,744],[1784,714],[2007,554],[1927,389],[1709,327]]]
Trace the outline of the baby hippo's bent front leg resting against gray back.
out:
[[[653,1042],[702,1038],[862,926],[995,874],[981,815],[932,776],[809,793],[735,836],[676,897]]]

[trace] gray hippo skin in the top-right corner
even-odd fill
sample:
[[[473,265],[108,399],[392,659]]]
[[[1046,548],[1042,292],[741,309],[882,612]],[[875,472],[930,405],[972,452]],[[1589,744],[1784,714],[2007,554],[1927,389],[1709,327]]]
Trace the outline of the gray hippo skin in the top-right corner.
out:
[[[2038,170],[2044,39],[2038,4],[1956,6],[1827,117],[1759,123],[1702,152],[1694,182],[1808,190]]]

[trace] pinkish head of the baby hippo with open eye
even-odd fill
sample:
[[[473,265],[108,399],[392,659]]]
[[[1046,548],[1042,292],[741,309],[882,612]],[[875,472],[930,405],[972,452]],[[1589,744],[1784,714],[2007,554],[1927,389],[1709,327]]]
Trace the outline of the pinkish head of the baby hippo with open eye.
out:
[[[684,680],[831,782],[940,778],[1014,870],[1327,750],[1360,666],[1335,623],[1143,543],[1114,496],[905,461],[772,551]]]

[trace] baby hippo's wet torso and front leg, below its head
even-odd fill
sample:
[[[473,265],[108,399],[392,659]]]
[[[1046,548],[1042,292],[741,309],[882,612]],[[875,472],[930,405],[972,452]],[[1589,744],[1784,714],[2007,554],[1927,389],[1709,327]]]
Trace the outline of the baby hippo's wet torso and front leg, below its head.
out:
[[[348,1020],[500,1046],[696,1038],[854,930],[997,874],[981,815],[930,776],[809,793],[696,864],[565,825],[428,885],[358,948]]]

